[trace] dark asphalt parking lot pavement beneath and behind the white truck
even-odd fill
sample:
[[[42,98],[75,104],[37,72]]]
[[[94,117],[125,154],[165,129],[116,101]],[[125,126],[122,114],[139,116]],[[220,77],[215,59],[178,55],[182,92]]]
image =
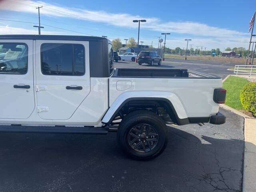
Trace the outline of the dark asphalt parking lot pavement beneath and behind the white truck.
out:
[[[222,78],[233,73],[226,70],[230,64],[183,61],[166,59],[160,67],[189,68]],[[127,61],[115,67],[127,66],[151,67]],[[168,126],[166,150],[145,162],[126,157],[113,132],[0,133],[0,192],[241,191],[244,119],[220,112],[227,116],[222,125]]]

